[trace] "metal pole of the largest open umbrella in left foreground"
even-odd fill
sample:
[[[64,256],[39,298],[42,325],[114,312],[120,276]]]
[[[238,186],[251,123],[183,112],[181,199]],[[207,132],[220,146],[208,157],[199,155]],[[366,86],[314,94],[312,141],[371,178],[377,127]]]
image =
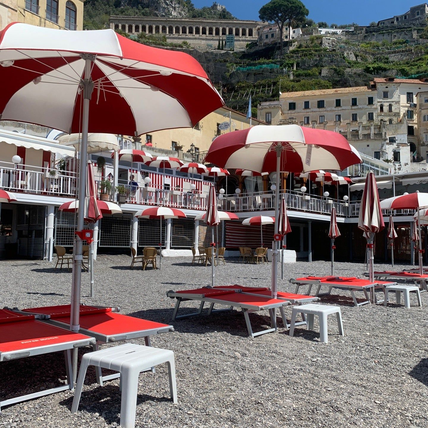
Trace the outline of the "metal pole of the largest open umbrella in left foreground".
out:
[[[82,111],[82,144],[80,152],[79,163],[79,206],[85,206],[86,196],[86,158],[88,155],[88,127],[89,127],[89,101],[94,90],[94,83],[91,79],[91,65],[95,59],[90,54],[82,54],[85,59],[85,74],[84,79],[80,82],[83,86],[83,111]],[[77,213],[77,232],[81,232],[84,226],[85,210],[80,209]],[[82,279],[82,246],[83,241],[78,235],[75,235],[75,253],[73,259],[73,279],[71,283],[71,316],[70,316],[70,330],[79,331],[79,315],[80,315],[80,285]],[[72,371],[73,380],[76,381],[77,377],[77,348],[73,350],[72,357]]]

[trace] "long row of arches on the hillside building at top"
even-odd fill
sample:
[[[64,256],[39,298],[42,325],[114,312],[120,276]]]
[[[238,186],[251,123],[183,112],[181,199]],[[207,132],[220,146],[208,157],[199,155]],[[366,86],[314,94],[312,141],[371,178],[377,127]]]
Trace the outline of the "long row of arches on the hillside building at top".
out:
[[[196,36],[227,36],[253,37],[253,28],[234,27],[202,27],[187,25],[148,25],[148,24],[114,24],[114,30],[122,30],[126,33],[146,34],[194,34]]]

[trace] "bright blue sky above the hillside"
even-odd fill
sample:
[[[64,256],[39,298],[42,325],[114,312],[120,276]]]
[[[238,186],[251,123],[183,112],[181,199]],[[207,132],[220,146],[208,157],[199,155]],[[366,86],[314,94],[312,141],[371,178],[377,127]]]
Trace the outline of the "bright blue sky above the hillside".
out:
[[[192,0],[196,7],[211,6],[213,0]],[[268,0],[217,0],[223,4],[239,19],[259,19],[259,9]],[[309,9],[309,18],[315,22],[326,21],[327,24],[350,24],[356,22],[359,25],[368,25],[372,21],[401,15],[409,10],[410,6],[416,6],[423,1],[412,2],[398,0],[303,0]]]

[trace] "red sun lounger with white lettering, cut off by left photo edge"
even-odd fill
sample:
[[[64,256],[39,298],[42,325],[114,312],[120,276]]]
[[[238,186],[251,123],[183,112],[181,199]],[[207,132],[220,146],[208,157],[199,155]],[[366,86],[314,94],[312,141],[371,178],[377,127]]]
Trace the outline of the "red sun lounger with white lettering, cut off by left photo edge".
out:
[[[0,401],[0,411],[2,406],[73,389],[70,350],[88,345],[95,345],[95,339],[46,324],[35,315],[20,315],[9,309],[0,309],[0,361],[64,351],[67,373],[67,385]]]

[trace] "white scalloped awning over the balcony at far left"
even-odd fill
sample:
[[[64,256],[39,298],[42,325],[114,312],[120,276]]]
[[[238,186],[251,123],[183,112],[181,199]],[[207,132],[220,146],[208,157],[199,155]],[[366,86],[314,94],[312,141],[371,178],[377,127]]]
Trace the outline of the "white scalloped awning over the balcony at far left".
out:
[[[64,147],[58,144],[56,140],[48,138],[35,137],[33,135],[21,134],[20,132],[11,132],[0,130],[0,143],[12,144],[26,149],[45,150],[46,152],[56,153],[63,156],[74,157],[73,147]]]

